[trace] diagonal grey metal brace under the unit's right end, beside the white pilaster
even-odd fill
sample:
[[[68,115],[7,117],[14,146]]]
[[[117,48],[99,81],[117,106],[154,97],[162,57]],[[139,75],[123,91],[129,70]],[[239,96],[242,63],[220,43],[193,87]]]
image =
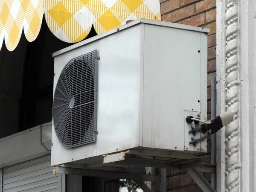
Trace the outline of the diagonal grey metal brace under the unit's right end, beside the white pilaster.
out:
[[[216,192],[208,181],[198,172],[197,169],[188,169],[188,174],[192,177],[196,184],[203,190],[203,192]]]

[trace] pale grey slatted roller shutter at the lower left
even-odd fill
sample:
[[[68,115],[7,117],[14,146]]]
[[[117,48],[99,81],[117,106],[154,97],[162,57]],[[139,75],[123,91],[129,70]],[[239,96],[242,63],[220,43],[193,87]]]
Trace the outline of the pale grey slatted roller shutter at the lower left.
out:
[[[50,156],[3,168],[3,192],[63,192],[62,175],[53,175]]]

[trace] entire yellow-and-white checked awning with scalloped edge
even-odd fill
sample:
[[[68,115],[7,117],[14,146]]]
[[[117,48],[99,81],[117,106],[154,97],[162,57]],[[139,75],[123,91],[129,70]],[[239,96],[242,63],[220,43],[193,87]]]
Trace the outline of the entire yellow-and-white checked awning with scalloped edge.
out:
[[[20,41],[22,30],[34,41],[45,16],[51,32],[69,43],[83,40],[92,25],[97,34],[127,20],[160,20],[160,0],[0,0],[0,48],[9,51]]]

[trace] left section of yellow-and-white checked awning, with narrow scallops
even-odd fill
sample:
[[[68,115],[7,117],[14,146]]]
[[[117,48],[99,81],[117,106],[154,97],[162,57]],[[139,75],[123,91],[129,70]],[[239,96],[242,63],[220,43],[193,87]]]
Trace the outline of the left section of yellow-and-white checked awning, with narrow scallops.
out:
[[[44,0],[33,3],[31,0],[0,0],[0,40],[4,38],[9,51],[17,47],[22,30],[28,41],[37,38],[44,14]]]

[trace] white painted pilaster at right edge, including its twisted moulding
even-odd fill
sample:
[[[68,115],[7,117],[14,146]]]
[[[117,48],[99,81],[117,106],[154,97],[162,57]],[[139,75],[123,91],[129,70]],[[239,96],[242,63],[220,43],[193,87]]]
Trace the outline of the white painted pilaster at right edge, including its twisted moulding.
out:
[[[217,0],[217,191],[256,191],[256,1]]]

